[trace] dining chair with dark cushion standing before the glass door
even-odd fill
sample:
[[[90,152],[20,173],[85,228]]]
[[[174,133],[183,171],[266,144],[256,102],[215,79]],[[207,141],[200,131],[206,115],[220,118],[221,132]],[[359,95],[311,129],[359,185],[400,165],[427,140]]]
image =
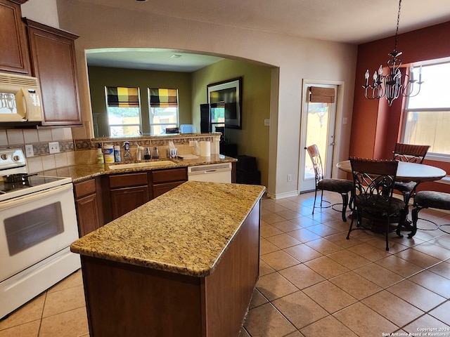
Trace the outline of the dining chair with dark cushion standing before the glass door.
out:
[[[320,208],[333,208],[333,206],[336,205],[332,204],[330,206],[322,206],[322,202],[330,204],[329,201],[323,200],[323,191],[338,192],[342,197],[342,221],[347,221],[345,212],[347,211],[347,206],[349,205],[349,192],[352,192],[353,188],[352,181],[338,178],[324,178],[321,154],[317,145],[309,145],[308,147],[305,147],[304,150],[307,150],[309,157],[311,158],[312,165],[314,167],[314,175],[316,176],[316,189],[314,192],[314,205],[312,208],[312,213],[314,214],[314,209],[316,208],[317,190],[321,190]]]

